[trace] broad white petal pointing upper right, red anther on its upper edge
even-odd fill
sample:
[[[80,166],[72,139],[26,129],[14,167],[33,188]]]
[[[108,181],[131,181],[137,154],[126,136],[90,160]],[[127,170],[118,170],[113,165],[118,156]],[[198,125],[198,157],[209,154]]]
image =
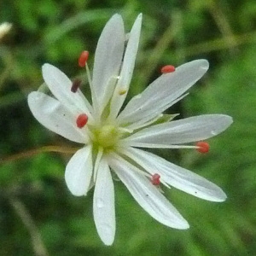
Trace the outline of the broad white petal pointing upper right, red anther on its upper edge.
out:
[[[119,114],[119,123],[126,125],[140,119],[153,119],[166,108],[172,106],[176,99],[207,72],[209,63],[206,60],[190,61],[177,67],[175,72],[166,73],[154,80],[139,96],[128,102],[124,111]]]

